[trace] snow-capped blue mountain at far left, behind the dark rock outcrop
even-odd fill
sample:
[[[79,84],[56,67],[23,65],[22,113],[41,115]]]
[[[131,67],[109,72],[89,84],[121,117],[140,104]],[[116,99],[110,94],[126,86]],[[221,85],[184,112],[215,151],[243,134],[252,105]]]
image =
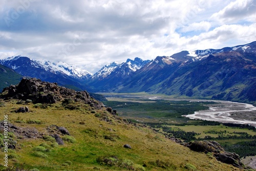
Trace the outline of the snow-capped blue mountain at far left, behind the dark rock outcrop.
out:
[[[88,89],[88,86],[82,84],[81,80],[84,82],[84,80],[92,77],[90,72],[63,62],[51,63],[46,60],[39,61],[22,56],[0,60],[0,64],[12,68],[22,76],[57,82],[59,85],[74,86],[73,88],[79,89]]]

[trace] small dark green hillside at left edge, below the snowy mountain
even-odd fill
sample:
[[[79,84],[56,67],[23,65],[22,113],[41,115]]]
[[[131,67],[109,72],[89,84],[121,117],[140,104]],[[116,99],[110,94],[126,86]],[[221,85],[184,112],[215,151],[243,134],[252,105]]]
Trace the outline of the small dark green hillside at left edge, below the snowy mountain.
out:
[[[11,68],[0,65],[0,92],[11,84],[18,84],[21,78],[22,76]]]

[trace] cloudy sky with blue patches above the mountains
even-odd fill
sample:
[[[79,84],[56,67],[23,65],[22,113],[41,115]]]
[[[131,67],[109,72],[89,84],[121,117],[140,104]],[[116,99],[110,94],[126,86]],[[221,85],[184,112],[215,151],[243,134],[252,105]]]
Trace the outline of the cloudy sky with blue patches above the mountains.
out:
[[[0,59],[111,62],[256,41],[256,0],[0,0]]]

